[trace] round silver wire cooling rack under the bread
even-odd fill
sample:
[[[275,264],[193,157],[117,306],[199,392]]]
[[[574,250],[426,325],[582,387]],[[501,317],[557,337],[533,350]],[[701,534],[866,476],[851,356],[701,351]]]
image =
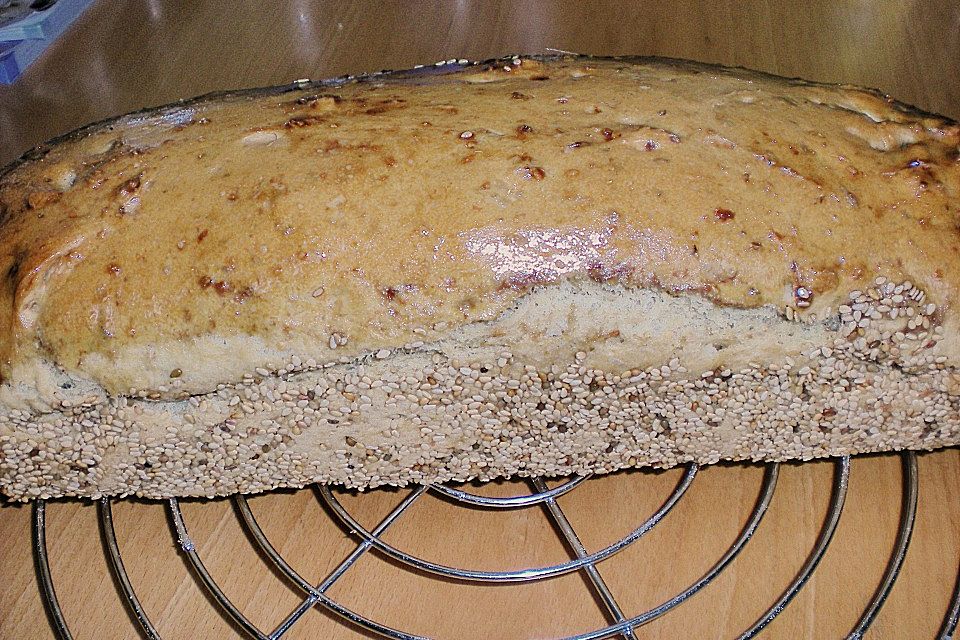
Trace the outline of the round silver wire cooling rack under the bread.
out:
[[[912,452],[903,453],[901,457],[904,477],[904,504],[901,509],[900,522],[893,549],[873,597],[870,598],[870,601],[855,626],[846,636],[849,640],[859,640],[862,638],[863,634],[876,618],[900,573],[906,557],[907,548],[910,545],[910,536],[917,514],[918,463],[916,455]],[[746,640],[760,635],[767,625],[790,604],[791,600],[800,592],[804,584],[816,570],[827,547],[830,545],[830,541],[840,521],[840,515],[843,511],[844,500],[847,494],[847,482],[850,477],[850,469],[851,460],[849,457],[840,458],[836,461],[827,517],[824,520],[816,542],[810,550],[806,561],[786,589],[770,604],[766,612],[749,628],[737,636],[739,640]],[[361,525],[340,500],[338,500],[329,487],[317,486],[316,490],[319,499],[326,503],[334,516],[339,519],[344,529],[358,539],[357,547],[319,584],[308,582],[284,560],[257,522],[247,500],[243,496],[236,496],[233,498],[233,501],[238,509],[240,520],[246,528],[247,534],[249,534],[250,538],[259,547],[263,557],[272,563],[273,567],[279,571],[279,575],[288,580],[303,597],[300,605],[291,611],[279,626],[272,631],[265,631],[258,628],[231,602],[221,586],[217,584],[204,567],[203,560],[200,558],[190,537],[190,532],[184,521],[179,502],[176,499],[171,499],[168,501],[167,506],[169,516],[173,523],[173,530],[179,538],[177,543],[193,569],[195,578],[199,584],[206,589],[212,600],[219,605],[221,615],[231,622],[238,632],[248,638],[255,638],[256,640],[276,640],[282,638],[294,628],[297,622],[308,611],[314,607],[320,607],[338,616],[344,625],[357,630],[364,630],[377,637],[394,638],[396,640],[426,640],[423,636],[395,629],[360,615],[326,595],[334,583],[349,571],[364,554],[376,551],[393,558],[410,571],[425,572],[438,579],[468,583],[504,584],[535,582],[563,574],[581,572],[586,578],[589,587],[594,591],[598,602],[602,603],[609,624],[601,629],[569,636],[568,640],[594,640],[613,637],[635,640],[637,637],[636,629],[638,627],[682,605],[709,585],[733,562],[750,541],[754,532],[760,526],[764,514],[767,512],[767,508],[776,491],[780,466],[778,464],[766,465],[756,503],[747,518],[746,524],[740,530],[733,544],[721,554],[710,569],[686,589],[683,589],[661,604],[647,611],[629,615],[625,613],[623,608],[618,604],[615,595],[597,570],[597,565],[636,542],[657,526],[674,506],[676,506],[681,498],[683,498],[687,489],[693,484],[697,472],[697,465],[688,465],[673,491],[652,515],[642,523],[639,523],[628,535],[603,549],[593,552],[588,552],[584,547],[577,532],[571,525],[570,520],[557,502],[559,496],[573,491],[584,482],[587,482],[589,480],[587,476],[567,480],[553,488],[548,488],[543,479],[530,479],[529,485],[532,489],[530,493],[511,497],[487,497],[445,485],[418,486],[413,488],[400,504],[372,530]],[[397,521],[402,518],[404,513],[408,511],[411,505],[431,492],[466,509],[545,509],[562,536],[562,541],[573,551],[576,557],[569,561],[553,565],[523,567],[509,571],[479,571],[470,568],[437,564],[407,553],[385,542],[383,535],[387,529],[394,526]],[[33,509],[33,551],[44,604],[46,605],[50,623],[56,635],[62,640],[72,639],[73,636],[67,620],[57,602],[56,589],[50,574],[46,545],[46,504],[43,501],[35,502]],[[137,632],[143,638],[159,640],[160,635],[150,621],[147,612],[141,606],[140,600],[124,569],[123,558],[114,532],[113,512],[109,499],[103,499],[99,502],[98,513],[106,557],[116,577],[119,590],[122,592],[123,600],[127,607],[129,607],[133,619],[136,621]],[[957,578],[950,606],[938,632],[937,639],[954,640],[958,620],[960,620],[960,576]]]

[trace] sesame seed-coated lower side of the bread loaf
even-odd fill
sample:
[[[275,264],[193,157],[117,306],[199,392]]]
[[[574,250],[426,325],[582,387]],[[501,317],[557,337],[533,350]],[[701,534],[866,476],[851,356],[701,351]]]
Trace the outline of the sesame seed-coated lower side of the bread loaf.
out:
[[[576,293],[631,295],[597,288]],[[894,301],[898,288],[908,293]],[[804,350],[735,368],[691,371],[671,358],[613,371],[593,366],[585,350],[535,366],[465,335],[455,347],[419,343],[349,363],[291,359],[176,401],[140,392],[64,401],[42,414],[8,409],[0,491],[14,500],[212,497],[315,482],[372,488],[957,445],[960,372],[939,355],[936,306],[918,298],[899,284],[854,291],[835,316],[799,321],[822,344],[783,334],[794,337],[781,345]],[[687,304],[695,315],[702,303]],[[877,318],[881,307],[889,310]],[[603,350],[597,341],[588,348]]]

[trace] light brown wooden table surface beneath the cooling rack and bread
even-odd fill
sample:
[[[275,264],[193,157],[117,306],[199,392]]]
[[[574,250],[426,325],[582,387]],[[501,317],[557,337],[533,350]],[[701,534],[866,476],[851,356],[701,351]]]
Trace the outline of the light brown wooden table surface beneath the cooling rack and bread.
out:
[[[447,58],[546,48],[658,54],[879,87],[960,118],[960,4],[955,1],[308,2],[101,0],[14,85],[0,86],[0,163],[89,121],[207,91],[277,84]],[[786,465],[770,510],[741,556],[641,638],[731,638],[796,574],[823,524],[836,465]],[[933,638],[960,566],[960,451],[919,459],[918,517],[902,575],[867,637]],[[681,471],[594,479],[560,499],[588,549],[635,527]],[[762,468],[700,472],[650,534],[600,565],[624,612],[654,606],[699,578],[738,533]],[[523,485],[497,485],[510,492]],[[840,638],[872,595],[894,542],[903,483],[897,456],[854,460],[839,528],[820,568],[763,637]],[[405,495],[347,495],[366,526]],[[356,545],[313,490],[250,501],[278,550],[319,582]],[[183,507],[207,568],[256,624],[273,629],[301,596],[258,558],[230,501]],[[231,638],[171,536],[164,505],[114,507],[126,567],[165,639]],[[49,638],[30,550],[30,508],[0,506],[0,638]],[[478,512],[423,498],[387,539],[438,562],[482,569],[569,558],[540,509]],[[48,543],[76,638],[135,638],[97,531],[96,508],[48,506]],[[478,587],[411,574],[364,556],[329,595],[395,627],[441,638],[556,637],[604,624],[580,575]],[[287,638],[362,637],[319,610]]]

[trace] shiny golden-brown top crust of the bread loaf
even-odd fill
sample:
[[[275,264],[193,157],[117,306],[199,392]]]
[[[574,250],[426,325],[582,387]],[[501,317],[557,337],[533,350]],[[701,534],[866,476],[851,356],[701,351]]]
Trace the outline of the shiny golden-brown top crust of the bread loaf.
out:
[[[743,69],[516,57],[207,96],[0,176],[0,401],[388,357],[564,281],[827,323],[906,281],[956,364],[958,209],[957,123]]]

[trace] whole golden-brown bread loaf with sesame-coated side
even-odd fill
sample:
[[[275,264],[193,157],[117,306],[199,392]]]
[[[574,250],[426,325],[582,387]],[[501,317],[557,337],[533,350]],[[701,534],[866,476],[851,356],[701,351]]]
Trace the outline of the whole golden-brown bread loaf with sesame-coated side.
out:
[[[0,175],[0,490],[960,444],[960,126],[514,57],[206,96]]]

